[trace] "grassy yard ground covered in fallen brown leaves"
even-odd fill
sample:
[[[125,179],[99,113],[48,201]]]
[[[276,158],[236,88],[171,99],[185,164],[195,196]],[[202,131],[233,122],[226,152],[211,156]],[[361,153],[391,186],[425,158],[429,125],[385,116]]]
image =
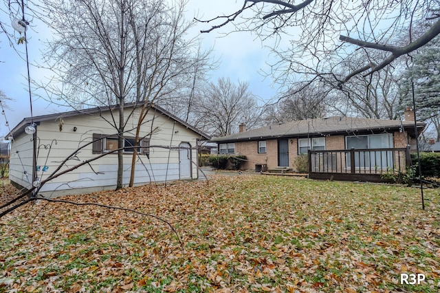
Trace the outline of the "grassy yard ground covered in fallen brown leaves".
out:
[[[0,292],[439,292],[440,195],[215,175],[39,202],[0,219]],[[401,285],[400,274],[424,274]]]

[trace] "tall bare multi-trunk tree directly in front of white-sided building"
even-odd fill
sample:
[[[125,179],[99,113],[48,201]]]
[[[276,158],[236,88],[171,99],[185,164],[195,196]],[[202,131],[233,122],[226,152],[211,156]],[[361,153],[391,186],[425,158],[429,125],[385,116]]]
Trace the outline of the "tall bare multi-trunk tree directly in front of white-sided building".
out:
[[[164,0],[42,0],[47,24],[56,38],[49,43],[46,61],[54,72],[47,93],[75,109],[100,106],[118,113],[109,124],[118,133],[118,179],[122,188],[124,132],[140,106],[135,127],[130,185],[133,185],[137,147],[145,135],[149,107],[182,87],[208,53],[197,51],[195,39],[186,40],[184,1]],[[196,54],[192,55],[192,52]],[[134,103],[124,116],[125,103]]]

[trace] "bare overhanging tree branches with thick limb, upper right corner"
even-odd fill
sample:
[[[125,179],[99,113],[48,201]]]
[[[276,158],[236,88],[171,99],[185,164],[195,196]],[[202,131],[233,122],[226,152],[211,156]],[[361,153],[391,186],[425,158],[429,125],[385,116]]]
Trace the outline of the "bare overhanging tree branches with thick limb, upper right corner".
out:
[[[234,23],[236,30],[252,30],[264,39],[274,39],[278,62],[272,72],[284,84],[295,74],[309,74],[331,80],[336,86],[358,74],[367,76],[387,67],[396,58],[425,46],[440,33],[439,2],[403,1],[296,1],[245,0],[230,14],[201,20],[212,23],[202,32]],[[432,19],[432,25],[414,38],[416,21]],[[289,36],[289,49],[282,49],[283,36]],[[402,44],[396,39],[408,40]],[[342,42],[342,43],[341,43]],[[386,52],[373,62],[369,51]],[[342,75],[333,72],[351,54],[364,54],[364,62]]]

